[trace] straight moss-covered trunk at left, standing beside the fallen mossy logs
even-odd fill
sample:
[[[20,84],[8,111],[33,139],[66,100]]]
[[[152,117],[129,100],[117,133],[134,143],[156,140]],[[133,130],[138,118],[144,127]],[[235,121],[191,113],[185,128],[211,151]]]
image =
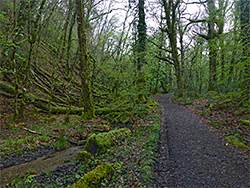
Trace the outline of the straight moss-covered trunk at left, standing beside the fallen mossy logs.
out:
[[[85,11],[82,0],[76,0],[77,32],[79,44],[79,67],[81,77],[81,104],[84,107],[84,118],[94,117],[91,82],[89,80],[89,66],[87,62],[87,40],[85,27]]]

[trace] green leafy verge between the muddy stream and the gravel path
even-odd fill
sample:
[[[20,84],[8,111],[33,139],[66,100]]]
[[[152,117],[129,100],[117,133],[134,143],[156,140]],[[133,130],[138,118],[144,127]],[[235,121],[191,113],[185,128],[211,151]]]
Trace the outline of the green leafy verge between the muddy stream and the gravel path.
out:
[[[128,139],[108,149],[105,153],[97,154],[92,160],[76,161],[70,170],[63,170],[59,174],[55,170],[49,173],[35,173],[36,176],[27,174],[23,179],[17,177],[11,187],[70,187],[84,174],[106,162],[113,166],[115,174],[111,179],[104,179],[100,187],[148,187],[155,178],[153,165],[157,157],[161,121],[159,105],[155,102],[140,104],[131,111],[121,114],[124,116],[126,114],[128,121],[126,123],[119,121],[119,126],[126,127],[131,124],[132,136]],[[99,123],[109,124],[107,120],[101,120]],[[116,122],[113,127],[118,124]],[[39,131],[36,126],[32,126],[32,128]],[[46,138],[40,139],[45,141]],[[60,139],[55,142],[55,146],[58,149],[64,147],[66,138],[66,134],[62,134]],[[39,179],[41,176],[42,180]]]

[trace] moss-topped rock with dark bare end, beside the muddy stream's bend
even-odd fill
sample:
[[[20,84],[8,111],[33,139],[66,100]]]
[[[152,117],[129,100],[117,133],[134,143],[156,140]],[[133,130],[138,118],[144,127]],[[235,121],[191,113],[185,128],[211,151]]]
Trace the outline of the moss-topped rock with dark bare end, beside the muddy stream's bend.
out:
[[[103,153],[115,143],[119,143],[130,136],[131,131],[127,128],[112,130],[107,133],[93,134],[89,137],[85,150],[90,152],[92,155],[96,153]]]

